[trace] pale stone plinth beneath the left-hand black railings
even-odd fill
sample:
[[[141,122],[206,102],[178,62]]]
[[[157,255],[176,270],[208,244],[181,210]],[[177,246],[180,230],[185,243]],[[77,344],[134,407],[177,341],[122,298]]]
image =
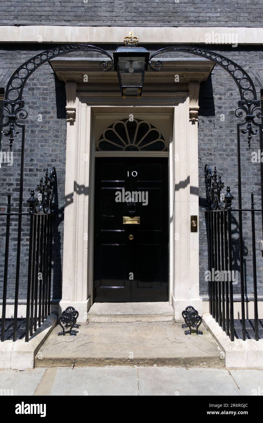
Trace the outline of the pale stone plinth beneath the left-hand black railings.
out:
[[[0,368],[26,370],[34,368],[35,356],[52,332],[58,321],[58,316],[51,313],[44,320],[36,332],[33,333],[29,342],[25,342],[25,338],[16,342],[4,341],[0,342]]]

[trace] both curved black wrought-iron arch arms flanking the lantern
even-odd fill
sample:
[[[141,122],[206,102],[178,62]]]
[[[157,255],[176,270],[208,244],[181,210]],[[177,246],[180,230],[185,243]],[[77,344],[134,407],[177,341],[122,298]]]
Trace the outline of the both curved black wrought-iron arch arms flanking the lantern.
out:
[[[15,126],[19,126],[16,123],[18,118],[25,119],[27,118],[27,112],[23,109],[25,103],[22,101],[22,93],[27,82],[27,79],[30,75],[43,63],[47,62],[52,58],[55,58],[59,55],[67,54],[74,51],[94,51],[98,53],[102,53],[103,55],[107,56],[110,59],[110,63],[107,63],[106,59],[101,61],[100,68],[103,71],[110,71],[113,68],[113,58],[112,56],[101,49],[98,46],[93,46],[91,44],[68,44],[64,46],[54,47],[52,49],[45,50],[44,52],[38,53],[37,55],[33,56],[32,58],[28,59],[25,63],[23,63],[19,68],[17,68],[13,74],[11,75],[7,88],[5,91],[5,111],[8,113],[6,115],[8,121],[3,124],[3,126],[9,126],[9,130],[4,132],[5,136],[10,136],[10,148],[12,149],[12,143],[14,141],[14,134],[18,134],[19,130],[15,130]],[[238,108],[235,111],[235,115],[238,118],[241,118],[243,114],[245,114],[244,125],[247,125],[246,129],[242,130],[243,134],[248,133],[248,144],[250,148],[250,141],[252,135],[258,134],[258,129],[253,129],[252,125],[260,126],[258,122],[255,122],[255,118],[261,118],[262,110],[260,109],[260,102],[257,100],[257,93],[255,90],[254,83],[252,79],[249,77],[248,73],[244,71],[241,66],[237,63],[233,62],[226,58],[225,56],[206,50],[200,47],[194,46],[169,46],[164,47],[162,49],[157,50],[154,52],[150,57],[149,66],[154,71],[159,71],[162,69],[162,61],[156,60],[154,64],[151,62],[157,55],[162,55],[163,53],[167,52],[187,52],[193,55],[197,55],[200,57],[205,57],[208,60],[214,61],[219,66],[221,66],[225,71],[227,71],[233,80],[236,82],[238,86],[238,90],[240,93],[240,101],[238,102]],[[239,73],[238,73],[239,72]],[[247,84],[247,86],[245,86]],[[14,98],[12,98],[14,95]],[[248,98],[248,97],[251,98]],[[242,124],[241,124],[242,125]]]

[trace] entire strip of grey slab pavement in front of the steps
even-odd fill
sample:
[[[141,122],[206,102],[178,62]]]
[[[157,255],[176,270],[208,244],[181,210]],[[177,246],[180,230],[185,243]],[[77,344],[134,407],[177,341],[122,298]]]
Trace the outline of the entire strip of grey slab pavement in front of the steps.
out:
[[[2,370],[0,395],[263,396],[263,370],[157,366]]]

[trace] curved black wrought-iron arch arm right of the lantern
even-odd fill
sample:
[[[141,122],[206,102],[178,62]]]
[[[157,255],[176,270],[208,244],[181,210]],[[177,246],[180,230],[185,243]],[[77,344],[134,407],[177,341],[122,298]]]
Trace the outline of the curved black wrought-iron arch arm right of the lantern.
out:
[[[242,133],[248,134],[248,146],[250,148],[252,135],[257,135],[259,133],[257,128],[253,129],[253,126],[260,126],[260,123],[256,122],[255,118],[261,119],[263,111],[260,108],[260,101],[257,100],[255,86],[252,79],[249,77],[249,74],[243,68],[241,68],[241,66],[233,62],[233,60],[230,60],[219,53],[212,52],[211,50],[193,46],[169,46],[157,50],[149,58],[150,68],[153,71],[161,70],[163,66],[162,61],[156,60],[153,62],[153,59],[157,55],[174,51],[186,52],[196,56],[204,57],[215,62],[231,75],[233,80],[236,82],[240,93],[240,101],[238,102],[238,108],[235,111],[235,115],[237,118],[243,117],[245,120],[242,126],[246,125],[246,129],[243,129]]]

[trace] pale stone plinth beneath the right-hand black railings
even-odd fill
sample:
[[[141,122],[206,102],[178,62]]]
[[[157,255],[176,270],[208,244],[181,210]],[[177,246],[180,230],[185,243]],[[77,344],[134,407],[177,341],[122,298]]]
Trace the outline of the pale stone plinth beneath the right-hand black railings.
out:
[[[224,352],[226,368],[263,369],[263,339],[232,342],[210,313],[203,315],[203,324]]]

